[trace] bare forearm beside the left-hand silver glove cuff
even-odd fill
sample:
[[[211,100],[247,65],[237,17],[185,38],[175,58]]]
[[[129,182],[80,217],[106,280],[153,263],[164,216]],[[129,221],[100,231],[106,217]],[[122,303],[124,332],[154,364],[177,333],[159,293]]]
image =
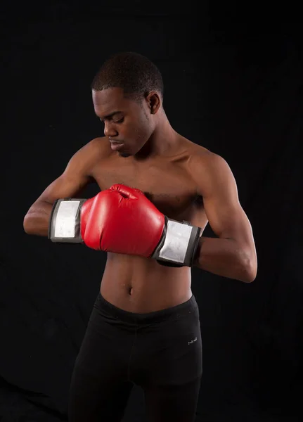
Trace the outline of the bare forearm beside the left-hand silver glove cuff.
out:
[[[25,232],[36,236],[48,236],[52,207],[53,205],[46,201],[34,203],[23,220]]]

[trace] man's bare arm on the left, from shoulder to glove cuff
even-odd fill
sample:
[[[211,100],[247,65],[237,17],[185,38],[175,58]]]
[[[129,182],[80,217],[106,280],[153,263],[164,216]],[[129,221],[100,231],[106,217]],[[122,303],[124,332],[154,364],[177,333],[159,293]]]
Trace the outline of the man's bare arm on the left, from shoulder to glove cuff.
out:
[[[92,181],[91,166],[98,158],[98,140],[94,139],[72,156],[63,174],[54,180],[34,201],[23,220],[27,234],[47,236],[53,202],[58,198],[77,197]]]

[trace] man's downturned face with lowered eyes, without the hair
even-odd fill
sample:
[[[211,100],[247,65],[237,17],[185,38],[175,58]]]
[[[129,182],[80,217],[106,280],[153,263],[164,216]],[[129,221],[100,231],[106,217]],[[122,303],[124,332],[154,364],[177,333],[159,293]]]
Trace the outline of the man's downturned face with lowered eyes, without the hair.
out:
[[[92,91],[96,115],[104,122],[104,135],[122,156],[138,153],[153,133],[148,103],[124,98],[123,89]]]

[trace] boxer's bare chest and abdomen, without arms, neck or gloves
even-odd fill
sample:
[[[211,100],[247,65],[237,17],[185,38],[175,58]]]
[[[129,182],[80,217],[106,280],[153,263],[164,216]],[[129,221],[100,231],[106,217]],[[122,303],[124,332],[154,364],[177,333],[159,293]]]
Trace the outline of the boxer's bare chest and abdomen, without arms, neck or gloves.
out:
[[[100,139],[100,142],[106,142]],[[173,156],[134,160],[110,151],[91,171],[101,190],[112,184],[138,188],[167,217],[205,228],[202,198],[191,177],[191,156],[203,149],[184,139]],[[108,252],[103,297],[129,312],[154,312],[191,298],[191,269],[164,267],[155,260]]]

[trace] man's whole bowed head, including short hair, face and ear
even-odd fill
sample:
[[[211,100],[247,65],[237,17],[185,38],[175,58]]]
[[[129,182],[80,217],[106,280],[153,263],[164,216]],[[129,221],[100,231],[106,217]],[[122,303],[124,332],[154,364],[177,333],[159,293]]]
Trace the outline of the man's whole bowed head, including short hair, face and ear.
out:
[[[155,130],[163,81],[157,67],[138,53],[117,53],[103,63],[91,84],[95,113],[120,154],[134,155]]]

